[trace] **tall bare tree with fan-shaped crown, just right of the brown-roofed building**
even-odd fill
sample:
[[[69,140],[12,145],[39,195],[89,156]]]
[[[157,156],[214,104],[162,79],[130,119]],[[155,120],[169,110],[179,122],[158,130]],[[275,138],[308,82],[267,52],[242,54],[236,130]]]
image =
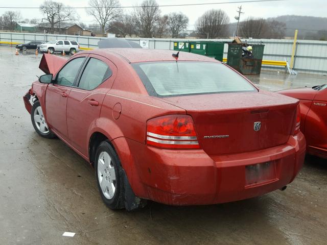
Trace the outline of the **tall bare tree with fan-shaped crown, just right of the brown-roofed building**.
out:
[[[91,8],[87,9],[86,12],[100,24],[103,36],[105,36],[105,28],[109,22],[118,19],[123,14],[122,9],[119,8],[119,0],[90,0],[88,5]]]

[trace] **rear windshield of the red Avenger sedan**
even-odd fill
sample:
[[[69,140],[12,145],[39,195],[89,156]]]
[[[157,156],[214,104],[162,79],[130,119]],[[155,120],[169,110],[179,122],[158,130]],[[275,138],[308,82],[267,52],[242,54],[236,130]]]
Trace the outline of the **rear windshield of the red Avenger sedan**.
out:
[[[226,65],[214,62],[142,62],[132,64],[152,96],[257,91]]]

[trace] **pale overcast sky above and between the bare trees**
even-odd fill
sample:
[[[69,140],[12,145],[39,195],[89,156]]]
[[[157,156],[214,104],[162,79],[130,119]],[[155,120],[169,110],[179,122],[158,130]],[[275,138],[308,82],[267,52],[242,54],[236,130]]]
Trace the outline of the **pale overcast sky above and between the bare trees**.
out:
[[[157,0],[159,5],[170,4],[190,4],[190,3],[221,3],[221,2],[238,2],[240,0]],[[71,7],[86,7],[88,6],[88,0],[69,0],[58,1],[65,4],[69,3]],[[141,0],[120,0],[122,6],[135,6],[141,4]],[[1,7],[39,7],[42,1],[39,0],[0,0]],[[193,29],[194,22],[208,9],[223,9],[227,12],[230,22],[234,22],[234,17],[238,14],[237,7],[242,5],[242,12],[245,12],[241,16],[246,18],[248,16],[255,17],[275,17],[280,15],[308,15],[317,17],[327,17],[327,1],[326,0],[286,0],[276,2],[263,2],[263,3],[242,3],[242,4],[217,4],[217,5],[203,5],[203,6],[183,6],[183,7],[160,7],[161,13],[166,14],[170,12],[181,11],[187,15],[190,19],[189,29]],[[0,15],[7,10],[14,9],[0,9]],[[132,11],[132,9],[124,9],[126,12]],[[42,18],[42,15],[38,9],[20,9],[22,18]],[[77,13],[80,16],[80,21],[90,24],[94,23],[94,19],[88,16],[84,9],[77,9]]]

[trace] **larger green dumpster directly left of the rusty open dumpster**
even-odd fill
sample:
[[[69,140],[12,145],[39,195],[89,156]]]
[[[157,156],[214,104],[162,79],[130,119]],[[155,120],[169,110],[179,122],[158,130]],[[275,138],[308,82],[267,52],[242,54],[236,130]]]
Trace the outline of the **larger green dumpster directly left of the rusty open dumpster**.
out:
[[[223,61],[224,42],[197,41],[190,42],[190,51],[194,54],[205,55]]]

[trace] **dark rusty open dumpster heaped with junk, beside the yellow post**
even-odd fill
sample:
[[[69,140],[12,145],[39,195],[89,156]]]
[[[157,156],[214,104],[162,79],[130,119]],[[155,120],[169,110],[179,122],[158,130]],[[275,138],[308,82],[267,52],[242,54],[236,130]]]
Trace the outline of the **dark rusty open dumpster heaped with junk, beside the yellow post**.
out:
[[[259,75],[261,72],[262,58],[265,45],[253,44],[252,56],[242,57],[243,43],[228,43],[227,65],[244,75]]]

